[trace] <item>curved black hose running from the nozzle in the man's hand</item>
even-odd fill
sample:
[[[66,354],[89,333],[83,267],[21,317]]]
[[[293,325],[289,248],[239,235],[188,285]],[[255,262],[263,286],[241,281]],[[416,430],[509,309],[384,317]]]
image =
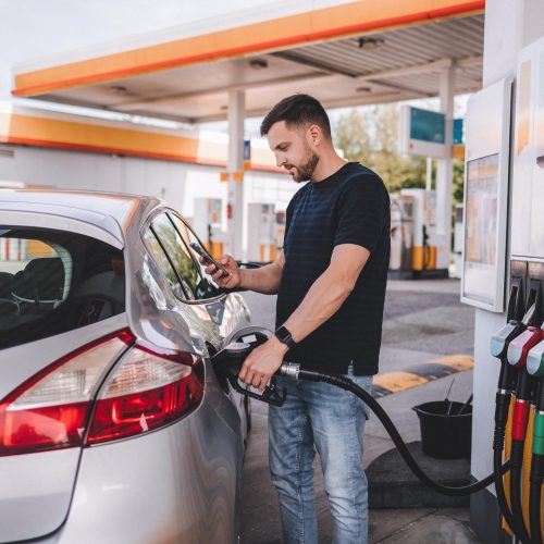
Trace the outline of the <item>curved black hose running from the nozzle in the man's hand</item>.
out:
[[[395,424],[390,419],[385,410],[380,406],[378,400],[375,400],[367,391],[364,391],[362,387],[359,387],[351,380],[343,375],[327,374],[325,372],[320,372],[309,369],[300,369],[298,364],[289,364],[289,363],[282,364],[279,373],[290,378],[297,378],[298,380],[308,380],[312,382],[326,382],[332,385],[336,385],[337,387],[341,387],[345,391],[349,391],[354,395],[358,396],[378,416],[378,419],[381,421],[381,423],[387,431],[388,435],[391,436],[395,446],[397,447],[398,453],[401,455],[403,459],[408,465],[413,474],[428,487],[432,489],[437,493],[441,493],[442,495],[449,495],[449,496],[470,495],[472,493],[475,493],[478,491],[487,487],[495,481],[495,473],[492,473],[486,478],[484,478],[483,480],[480,480],[479,482],[474,482],[470,485],[462,485],[459,487],[443,485],[438,482],[435,482],[425,474],[425,472],[421,469],[416,459],[412,457],[403,437],[398,433]],[[500,477],[504,473],[506,473],[509,470],[509,468],[510,468],[510,462],[506,461],[502,466]]]

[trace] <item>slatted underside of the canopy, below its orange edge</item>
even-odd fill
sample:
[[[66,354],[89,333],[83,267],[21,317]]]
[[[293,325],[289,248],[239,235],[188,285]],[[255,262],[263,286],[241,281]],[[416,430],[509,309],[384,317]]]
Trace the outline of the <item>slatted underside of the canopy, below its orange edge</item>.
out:
[[[247,115],[309,92],[325,107],[437,96],[443,69],[455,92],[481,88],[484,15],[472,13],[101,83],[57,88],[36,99],[200,123],[226,119],[228,91],[246,92]]]

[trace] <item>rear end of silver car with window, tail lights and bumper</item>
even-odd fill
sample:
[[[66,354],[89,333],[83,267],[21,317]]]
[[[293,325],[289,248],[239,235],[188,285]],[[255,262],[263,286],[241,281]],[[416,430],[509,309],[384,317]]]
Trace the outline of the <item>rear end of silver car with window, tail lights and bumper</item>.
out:
[[[0,542],[232,542],[224,395],[132,333],[126,248],[57,223],[0,225]]]

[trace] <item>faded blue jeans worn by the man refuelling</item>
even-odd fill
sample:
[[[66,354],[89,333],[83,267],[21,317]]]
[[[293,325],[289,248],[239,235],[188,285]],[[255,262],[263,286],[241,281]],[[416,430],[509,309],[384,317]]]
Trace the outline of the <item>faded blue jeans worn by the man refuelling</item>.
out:
[[[370,391],[372,376],[347,376]],[[322,382],[277,378],[287,390],[269,407],[269,461],[287,544],[316,544],[318,524],[312,462],[321,458],[335,544],[367,544],[368,484],[362,469],[367,406],[353,393]]]

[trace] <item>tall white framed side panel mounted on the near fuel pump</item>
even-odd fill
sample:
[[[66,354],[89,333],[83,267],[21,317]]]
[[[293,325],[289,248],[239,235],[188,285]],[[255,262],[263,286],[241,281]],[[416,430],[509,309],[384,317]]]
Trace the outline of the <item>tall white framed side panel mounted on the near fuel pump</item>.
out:
[[[471,96],[467,111],[461,301],[504,311],[510,78]]]

